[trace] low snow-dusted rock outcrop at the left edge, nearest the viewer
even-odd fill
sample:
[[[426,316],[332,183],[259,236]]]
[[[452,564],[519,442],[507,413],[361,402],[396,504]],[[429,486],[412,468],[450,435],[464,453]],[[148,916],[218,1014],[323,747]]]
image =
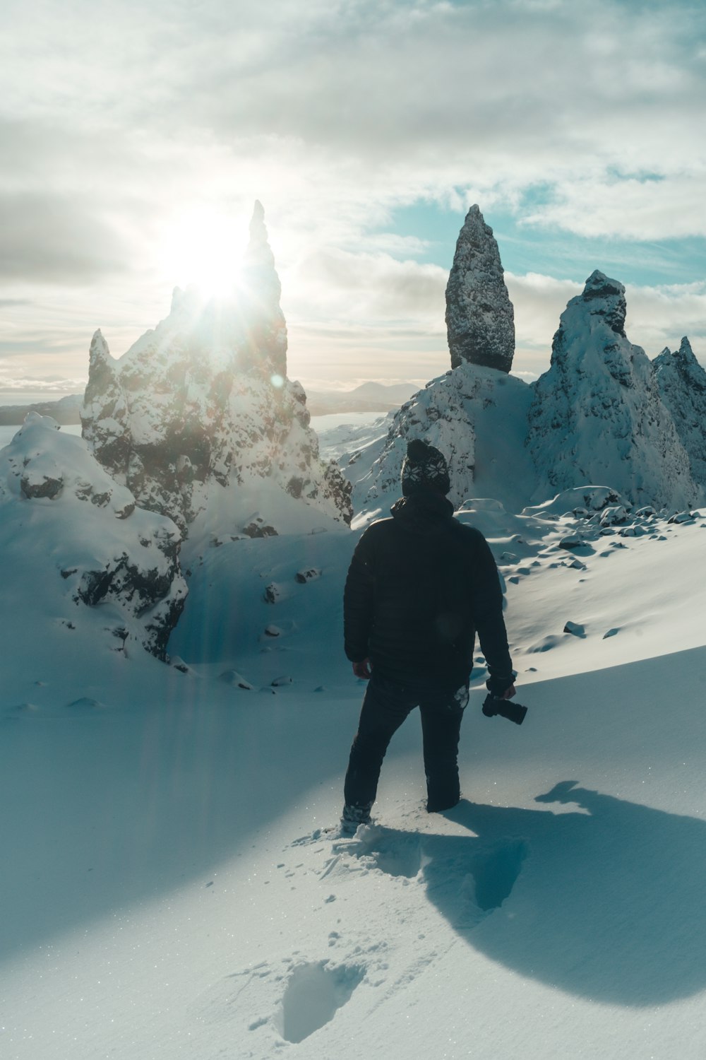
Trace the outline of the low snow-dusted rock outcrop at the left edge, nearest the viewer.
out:
[[[165,658],[187,591],[170,519],[138,508],[79,438],[36,412],[0,454],[0,510],[6,561],[48,595],[42,619],[73,629],[77,608],[99,605],[110,647]]]

